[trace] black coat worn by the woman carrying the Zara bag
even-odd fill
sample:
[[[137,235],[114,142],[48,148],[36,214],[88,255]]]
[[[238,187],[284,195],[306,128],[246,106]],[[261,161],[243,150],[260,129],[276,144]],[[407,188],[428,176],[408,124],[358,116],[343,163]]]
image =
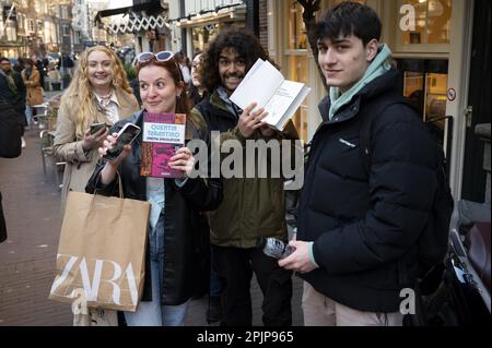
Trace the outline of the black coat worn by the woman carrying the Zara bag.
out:
[[[143,123],[143,112],[117,122],[110,132],[117,132],[126,123],[131,122],[140,128]],[[204,121],[203,121],[204,124]],[[192,139],[208,140],[207,129],[197,128],[190,122]],[[188,134],[188,133],[187,133]],[[132,152],[119,166],[124,195],[126,199],[147,201],[147,178],[140,176],[142,166],[142,134],[133,142]],[[99,160],[94,175],[85,189],[89,193],[119,196],[117,180],[104,187],[101,171],[105,163]],[[188,179],[183,188],[178,188],[174,180],[165,180],[165,212],[164,212],[164,274],[162,285],[162,304],[177,305],[187,301],[203,287],[201,281],[209,280],[210,264],[204,261],[210,250],[209,231],[203,227],[200,212],[215,209],[222,202],[222,183],[219,179]],[[149,253],[147,269],[150,269]],[[152,299],[151,274],[145,272],[143,301]]]

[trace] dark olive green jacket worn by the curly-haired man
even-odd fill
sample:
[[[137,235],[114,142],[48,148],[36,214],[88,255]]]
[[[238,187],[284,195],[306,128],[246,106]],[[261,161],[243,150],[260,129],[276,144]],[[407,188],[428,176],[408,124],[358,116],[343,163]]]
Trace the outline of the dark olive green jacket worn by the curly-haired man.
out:
[[[246,140],[237,129],[238,117],[226,106],[215,92],[210,99],[196,106],[191,113],[198,113],[207,121],[210,131],[220,131],[220,144],[238,140],[243,145],[244,171],[246,170]],[[266,142],[282,139],[297,139],[290,122],[283,134],[267,139],[257,131],[251,140]],[[219,146],[219,139],[215,145]],[[213,140],[212,140],[213,144]],[[221,163],[227,154],[221,155]],[[268,163],[271,158],[268,156]],[[258,169],[258,161],[255,161]],[[241,249],[255,248],[257,238],[274,237],[286,240],[285,202],[283,178],[231,178],[223,179],[224,200],[215,212],[209,213],[210,242],[218,247]]]

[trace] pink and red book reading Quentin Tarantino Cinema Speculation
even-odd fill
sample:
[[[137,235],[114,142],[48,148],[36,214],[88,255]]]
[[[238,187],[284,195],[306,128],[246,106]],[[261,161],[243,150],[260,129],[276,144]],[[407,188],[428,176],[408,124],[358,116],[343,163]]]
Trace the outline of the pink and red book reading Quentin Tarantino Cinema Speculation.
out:
[[[185,113],[143,115],[142,177],[179,179],[184,173],[171,169],[169,159],[185,145]]]

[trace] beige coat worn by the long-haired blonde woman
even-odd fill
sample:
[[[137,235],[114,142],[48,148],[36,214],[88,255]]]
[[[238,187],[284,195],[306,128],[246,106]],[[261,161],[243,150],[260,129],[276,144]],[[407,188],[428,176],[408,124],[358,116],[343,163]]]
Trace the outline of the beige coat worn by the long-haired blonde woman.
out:
[[[132,94],[126,92],[116,93],[119,108],[120,119],[125,119],[139,111],[139,104]],[[95,103],[95,101],[94,101]],[[79,100],[77,97],[63,98],[60,109],[58,110],[58,122],[55,135],[55,156],[66,161],[63,188],[61,192],[61,211],[65,212],[65,204],[68,192],[85,192],[85,185],[91,178],[99,154],[97,149],[92,149],[86,157],[82,148],[83,139],[77,139],[77,110],[79,109]],[[97,111],[97,120],[99,122],[112,122],[106,116]]]

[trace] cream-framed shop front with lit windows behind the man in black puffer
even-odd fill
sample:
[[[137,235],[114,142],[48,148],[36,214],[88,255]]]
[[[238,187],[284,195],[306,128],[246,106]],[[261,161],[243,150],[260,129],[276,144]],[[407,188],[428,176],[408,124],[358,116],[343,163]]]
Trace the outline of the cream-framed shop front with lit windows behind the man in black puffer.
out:
[[[338,2],[321,1],[320,12]],[[383,41],[402,72],[401,93],[418,100],[422,119],[433,124],[444,145],[454,196],[476,202],[489,196],[490,201],[490,176],[487,181],[483,170],[487,136],[475,132],[478,124],[488,123],[490,144],[490,43],[485,39],[490,37],[490,1],[360,2],[379,14]],[[288,79],[313,89],[294,117],[302,139],[308,142],[320,123],[317,104],[327,92],[307,41],[303,8],[295,0],[267,0],[267,5],[270,55]]]

